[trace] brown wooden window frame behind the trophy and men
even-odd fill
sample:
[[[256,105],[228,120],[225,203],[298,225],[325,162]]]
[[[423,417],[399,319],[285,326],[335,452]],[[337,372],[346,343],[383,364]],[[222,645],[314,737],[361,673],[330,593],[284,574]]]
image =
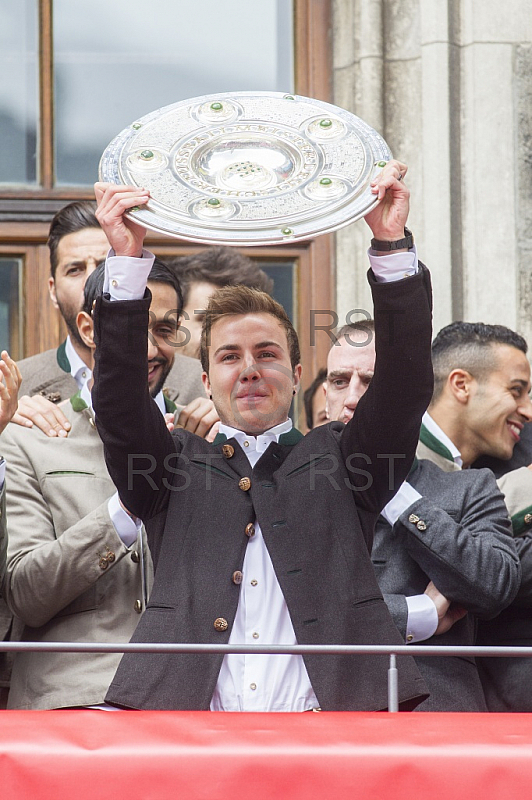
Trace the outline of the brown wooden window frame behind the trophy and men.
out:
[[[53,214],[72,200],[93,199],[89,187],[54,186],[53,135],[53,0],[39,0],[39,187],[0,189],[0,253],[24,258],[24,352],[55,347],[65,335],[60,315],[48,298],[49,259],[46,240]],[[332,99],[331,0],[294,0],[295,91],[330,102]],[[148,237],[161,255],[185,255],[199,247],[163,237]],[[246,249],[246,255],[297,262],[296,327],[305,364],[305,385],[325,364],[329,341],[316,337],[311,346],[312,309],[331,308],[332,236],[279,247]]]

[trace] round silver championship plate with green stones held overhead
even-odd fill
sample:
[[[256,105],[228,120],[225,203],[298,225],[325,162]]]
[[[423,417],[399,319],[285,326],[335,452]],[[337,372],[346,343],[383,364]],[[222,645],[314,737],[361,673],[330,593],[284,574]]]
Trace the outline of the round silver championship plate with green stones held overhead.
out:
[[[191,242],[284,244],[354,222],[376,204],[384,139],[337,106],[281,92],[196,97],[113,139],[100,180],[149,189],[128,216]]]

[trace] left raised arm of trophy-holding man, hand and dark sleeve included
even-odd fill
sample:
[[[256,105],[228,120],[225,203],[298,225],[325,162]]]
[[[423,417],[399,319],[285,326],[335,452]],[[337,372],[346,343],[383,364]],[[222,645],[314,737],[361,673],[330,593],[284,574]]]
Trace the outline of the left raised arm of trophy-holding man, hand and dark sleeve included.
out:
[[[124,277],[104,286],[108,293],[98,298],[93,311],[93,406],[120,499],[129,512],[147,520],[165,505],[168,459],[176,450],[148,388],[150,293],[144,287],[153,258],[142,248],[144,228],[124,216],[129,208],[145,203],[148,193],[101,183],[95,185],[95,193],[96,216],[114,251],[110,255],[122,257]],[[139,285],[139,274],[140,296],[130,287]],[[113,300],[113,295],[130,299]]]

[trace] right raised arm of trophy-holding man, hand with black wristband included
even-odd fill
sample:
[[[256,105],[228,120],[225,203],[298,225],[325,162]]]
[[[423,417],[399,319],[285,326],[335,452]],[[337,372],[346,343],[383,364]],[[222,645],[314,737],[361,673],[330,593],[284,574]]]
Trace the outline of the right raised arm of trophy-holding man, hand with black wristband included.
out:
[[[390,161],[375,182],[381,202],[366,222],[378,247],[405,237],[405,173],[404,164]],[[421,417],[432,396],[432,292],[428,271],[418,265],[415,250],[372,249],[370,258],[375,373],[342,433],[342,452],[357,505],[378,513],[408,475]]]

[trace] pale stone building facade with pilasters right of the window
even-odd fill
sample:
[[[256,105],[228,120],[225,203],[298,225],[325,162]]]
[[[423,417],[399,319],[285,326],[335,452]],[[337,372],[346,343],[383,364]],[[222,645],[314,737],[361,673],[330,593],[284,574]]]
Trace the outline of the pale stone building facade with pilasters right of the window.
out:
[[[435,330],[482,320],[532,342],[532,4],[334,0],[332,18],[334,102],[409,165]],[[336,234],[341,317],[347,298],[368,308],[367,238]]]

